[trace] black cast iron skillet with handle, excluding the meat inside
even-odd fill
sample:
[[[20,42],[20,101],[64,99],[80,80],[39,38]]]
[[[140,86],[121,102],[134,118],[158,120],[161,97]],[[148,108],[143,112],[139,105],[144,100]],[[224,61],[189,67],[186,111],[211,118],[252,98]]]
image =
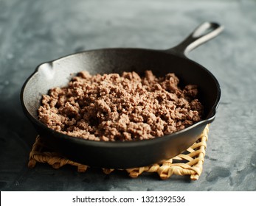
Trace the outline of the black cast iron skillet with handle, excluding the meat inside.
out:
[[[21,104],[41,138],[53,149],[77,163],[101,168],[134,168],[148,166],[176,156],[191,146],[215,118],[221,97],[220,85],[203,66],[185,54],[218,35],[223,29],[215,23],[201,24],[182,43],[172,49],[97,49],[71,54],[38,65],[21,89]],[[41,95],[50,88],[65,86],[78,71],[90,74],[152,70],[157,76],[175,73],[181,86],[198,85],[199,100],[204,104],[204,119],[186,129],[144,141],[97,142],[63,135],[38,121]]]

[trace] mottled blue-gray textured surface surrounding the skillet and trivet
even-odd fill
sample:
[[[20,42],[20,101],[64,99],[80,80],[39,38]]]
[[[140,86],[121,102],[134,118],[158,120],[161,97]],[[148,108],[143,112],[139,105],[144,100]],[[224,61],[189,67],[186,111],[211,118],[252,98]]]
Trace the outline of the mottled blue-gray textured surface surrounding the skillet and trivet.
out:
[[[1,191],[256,191],[256,1],[0,1]],[[210,127],[204,171],[159,180],[90,168],[27,168],[36,132],[19,93],[36,65],[105,47],[168,49],[204,21],[224,32],[189,57],[209,68],[222,89]]]

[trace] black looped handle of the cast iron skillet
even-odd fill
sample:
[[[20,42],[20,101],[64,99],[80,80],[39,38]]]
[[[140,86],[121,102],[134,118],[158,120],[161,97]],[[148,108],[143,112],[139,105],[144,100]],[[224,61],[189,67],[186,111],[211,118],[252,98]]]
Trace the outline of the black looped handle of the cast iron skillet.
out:
[[[186,55],[188,52],[196,49],[204,42],[215,38],[224,29],[224,26],[214,22],[204,22],[198,26],[184,41],[167,51],[174,51],[178,54]]]

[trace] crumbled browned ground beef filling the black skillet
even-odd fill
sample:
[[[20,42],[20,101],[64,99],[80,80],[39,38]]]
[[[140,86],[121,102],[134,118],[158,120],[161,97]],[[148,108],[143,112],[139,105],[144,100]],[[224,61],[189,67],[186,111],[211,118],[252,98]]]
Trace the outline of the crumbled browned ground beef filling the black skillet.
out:
[[[132,141],[167,135],[201,120],[196,85],[179,88],[175,74],[82,71],[44,95],[38,118],[66,135],[94,141]]]

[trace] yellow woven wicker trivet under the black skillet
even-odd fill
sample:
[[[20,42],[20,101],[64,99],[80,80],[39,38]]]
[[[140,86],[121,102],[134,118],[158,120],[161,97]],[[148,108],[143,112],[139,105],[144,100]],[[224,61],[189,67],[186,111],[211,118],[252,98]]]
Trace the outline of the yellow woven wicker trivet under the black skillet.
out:
[[[162,163],[156,163],[151,166],[125,169],[130,177],[138,177],[143,172],[157,172],[162,180],[166,180],[173,174],[190,175],[191,180],[198,180],[203,171],[205,149],[207,147],[209,125],[205,127],[198,141],[190,146],[185,152],[179,154],[170,160],[165,160]],[[75,163],[66,159],[57,152],[49,152],[49,148],[44,141],[38,136],[35,140],[30,152],[30,160],[28,166],[35,167],[36,163],[48,163],[53,168],[60,168],[66,164],[77,166],[78,172],[85,172],[89,166]],[[105,174],[111,173],[114,169],[105,169]]]

